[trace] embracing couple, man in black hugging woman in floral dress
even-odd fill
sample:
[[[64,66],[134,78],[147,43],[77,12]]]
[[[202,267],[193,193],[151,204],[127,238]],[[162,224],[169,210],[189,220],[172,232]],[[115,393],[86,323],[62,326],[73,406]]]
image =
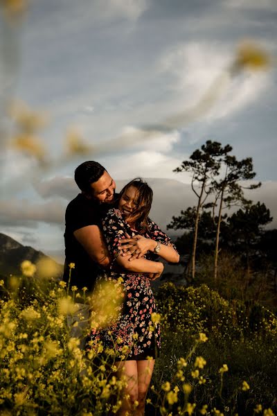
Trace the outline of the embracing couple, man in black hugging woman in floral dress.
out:
[[[87,349],[98,341],[118,352],[125,347],[124,361],[116,361],[118,377],[127,379],[119,414],[132,412],[138,401],[134,415],[140,416],[161,347],[159,323],[151,318],[157,311],[150,281],[163,272],[159,258],[177,263],[179,254],[148,217],[153,193],[146,182],[136,178],[116,194],[112,177],[93,161],[75,169],[75,182],[81,193],[66,208],[64,279],[69,281],[70,270],[70,284],[91,292],[107,279],[120,281],[124,300],[118,318],[92,327]]]

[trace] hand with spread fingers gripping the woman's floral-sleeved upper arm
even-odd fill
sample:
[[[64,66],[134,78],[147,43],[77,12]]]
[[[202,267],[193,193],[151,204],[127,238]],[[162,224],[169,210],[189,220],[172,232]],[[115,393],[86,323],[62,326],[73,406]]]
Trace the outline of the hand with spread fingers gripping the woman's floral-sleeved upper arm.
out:
[[[118,249],[121,250],[121,256],[129,256],[129,261],[143,257],[148,251],[153,251],[157,242],[151,239],[146,239],[143,236],[131,237],[128,234],[127,239],[121,239]]]

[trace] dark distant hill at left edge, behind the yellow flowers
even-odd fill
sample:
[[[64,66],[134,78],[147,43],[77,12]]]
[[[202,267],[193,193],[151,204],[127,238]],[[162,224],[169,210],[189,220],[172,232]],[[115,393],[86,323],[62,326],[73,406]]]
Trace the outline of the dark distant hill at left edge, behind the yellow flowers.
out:
[[[18,275],[21,273],[20,264],[24,260],[32,263],[42,259],[52,260],[41,251],[28,245],[22,245],[6,234],[0,233],[0,276]],[[55,262],[57,275],[62,275],[63,266]]]

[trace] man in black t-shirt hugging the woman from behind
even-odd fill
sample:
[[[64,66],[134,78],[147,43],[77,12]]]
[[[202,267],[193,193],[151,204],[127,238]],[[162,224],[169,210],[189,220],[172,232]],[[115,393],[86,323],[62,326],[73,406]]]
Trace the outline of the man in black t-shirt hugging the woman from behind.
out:
[[[75,169],[81,190],[66,208],[64,280],[79,289],[93,289],[99,266],[109,265],[109,252],[100,232],[101,216],[114,202],[116,184],[98,162],[84,162]],[[74,267],[72,266],[74,263]]]

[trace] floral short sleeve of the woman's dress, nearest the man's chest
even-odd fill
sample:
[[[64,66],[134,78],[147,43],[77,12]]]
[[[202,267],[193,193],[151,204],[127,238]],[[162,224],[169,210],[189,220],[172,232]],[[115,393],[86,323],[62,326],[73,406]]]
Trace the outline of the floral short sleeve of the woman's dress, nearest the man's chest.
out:
[[[102,219],[102,232],[105,236],[107,248],[110,254],[113,254],[114,259],[118,256],[119,240],[134,236],[135,233],[123,219],[123,215],[119,209],[109,209],[105,217]]]

